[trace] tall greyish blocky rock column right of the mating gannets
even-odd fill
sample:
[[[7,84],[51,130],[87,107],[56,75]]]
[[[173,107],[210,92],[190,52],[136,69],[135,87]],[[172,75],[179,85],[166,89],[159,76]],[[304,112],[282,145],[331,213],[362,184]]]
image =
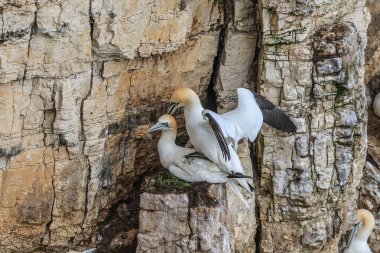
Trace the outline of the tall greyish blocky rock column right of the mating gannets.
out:
[[[364,4],[261,2],[258,91],[298,130],[261,132],[260,252],[338,252],[350,228],[366,155]]]

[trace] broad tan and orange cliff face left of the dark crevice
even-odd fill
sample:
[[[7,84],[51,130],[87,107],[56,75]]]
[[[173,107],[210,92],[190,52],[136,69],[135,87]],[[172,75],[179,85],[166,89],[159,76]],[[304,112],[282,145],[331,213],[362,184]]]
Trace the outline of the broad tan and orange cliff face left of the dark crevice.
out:
[[[158,164],[146,130],[162,99],[178,86],[207,89],[223,8],[70,0],[0,9],[0,251],[106,240],[97,224]]]

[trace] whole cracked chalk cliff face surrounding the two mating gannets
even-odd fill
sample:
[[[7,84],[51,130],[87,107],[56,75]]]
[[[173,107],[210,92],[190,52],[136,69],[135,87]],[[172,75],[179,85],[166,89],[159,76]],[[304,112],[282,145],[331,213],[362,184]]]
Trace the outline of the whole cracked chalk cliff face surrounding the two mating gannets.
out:
[[[188,221],[177,221],[186,243],[203,243],[197,250],[209,244],[191,235],[203,236],[196,224],[212,217],[226,250],[337,252],[366,152],[364,4],[0,3],[0,251],[143,252],[157,245],[144,244],[154,231],[139,214],[158,219],[172,206]],[[223,111],[244,82],[298,126],[295,135],[264,126],[257,145],[240,147],[257,179],[253,210],[229,192],[224,202],[220,186],[212,207],[190,207],[183,193],[140,198],[160,167],[157,135],[146,130],[171,92],[193,88]],[[166,204],[149,206],[156,200]]]

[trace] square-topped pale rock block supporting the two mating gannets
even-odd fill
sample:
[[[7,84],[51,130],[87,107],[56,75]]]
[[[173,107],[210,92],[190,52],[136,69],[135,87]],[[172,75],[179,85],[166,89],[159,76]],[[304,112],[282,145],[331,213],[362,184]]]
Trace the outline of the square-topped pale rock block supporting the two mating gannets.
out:
[[[223,185],[143,193],[137,252],[234,252]]]

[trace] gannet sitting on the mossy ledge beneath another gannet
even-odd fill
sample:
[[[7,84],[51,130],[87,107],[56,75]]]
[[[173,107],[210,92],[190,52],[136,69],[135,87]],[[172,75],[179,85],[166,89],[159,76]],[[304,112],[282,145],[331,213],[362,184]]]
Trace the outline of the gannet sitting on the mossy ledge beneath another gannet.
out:
[[[195,149],[180,147],[175,144],[177,136],[177,122],[169,114],[162,115],[158,122],[148,132],[161,130],[162,134],[158,141],[157,149],[162,166],[174,176],[187,182],[227,183],[238,198],[249,209],[249,205],[237,188],[235,181],[245,181],[249,176],[241,173],[226,173],[216,164],[207,160],[206,157],[188,156]],[[247,183],[248,184],[248,183]],[[250,189],[248,188],[250,191]]]

